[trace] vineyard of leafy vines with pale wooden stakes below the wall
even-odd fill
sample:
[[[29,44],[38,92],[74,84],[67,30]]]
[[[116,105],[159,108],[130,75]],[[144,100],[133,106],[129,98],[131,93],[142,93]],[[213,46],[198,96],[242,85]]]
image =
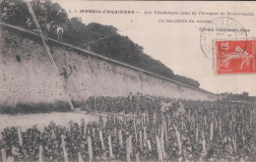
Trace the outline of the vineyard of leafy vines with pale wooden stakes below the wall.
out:
[[[94,104],[104,107],[110,100],[115,112],[124,109],[125,101],[113,98],[94,100]],[[51,122],[42,132],[36,127],[24,132],[19,127],[6,128],[1,133],[0,160],[256,160],[255,103],[183,101],[185,114],[176,116],[175,106],[161,112],[162,102],[172,100],[145,97],[139,115],[111,113],[92,123],[70,121],[68,127]]]

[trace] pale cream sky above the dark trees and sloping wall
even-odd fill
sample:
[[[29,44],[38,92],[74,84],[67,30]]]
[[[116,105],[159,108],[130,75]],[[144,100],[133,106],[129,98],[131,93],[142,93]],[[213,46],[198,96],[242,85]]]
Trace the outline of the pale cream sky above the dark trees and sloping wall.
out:
[[[144,52],[160,60],[174,74],[185,76],[200,82],[200,87],[214,93],[249,92],[256,96],[256,74],[215,75],[213,56],[207,57],[201,48],[200,27],[220,17],[221,12],[230,12],[236,16],[227,16],[233,23],[250,29],[246,38],[256,37],[256,22],[253,2],[153,2],[153,1],[68,1],[58,2],[67,12],[69,18],[80,17],[85,24],[98,23],[113,26],[118,33],[129,36],[134,42],[144,47]],[[75,13],[75,10],[127,10],[139,12],[130,15]],[[197,15],[162,15],[157,12],[196,12]],[[201,13],[199,13],[201,12]],[[219,15],[209,15],[211,13]],[[151,14],[150,14],[151,13]],[[253,13],[254,16],[237,16],[237,13]],[[199,15],[200,14],[200,15]],[[164,23],[160,23],[161,21]],[[193,20],[196,23],[167,23],[166,20]],[[199,21],[197,23],[197,21]],[[228,33],[228,32],[227,32]],[[227,36],[228,37],[228,36]],[[232,38],[232,36],[230,36]],[[234,35],[236,38],[236,35]],[[212,50],[213,44],[206,43],[204,48]]]

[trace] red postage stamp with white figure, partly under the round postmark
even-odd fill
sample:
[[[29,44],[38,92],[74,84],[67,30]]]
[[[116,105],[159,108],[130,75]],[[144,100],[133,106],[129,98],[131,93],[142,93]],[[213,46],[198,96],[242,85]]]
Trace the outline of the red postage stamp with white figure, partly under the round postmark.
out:
[[[256,73],[255,43],[255,40],[216,41],[216,73],[218,75]]]

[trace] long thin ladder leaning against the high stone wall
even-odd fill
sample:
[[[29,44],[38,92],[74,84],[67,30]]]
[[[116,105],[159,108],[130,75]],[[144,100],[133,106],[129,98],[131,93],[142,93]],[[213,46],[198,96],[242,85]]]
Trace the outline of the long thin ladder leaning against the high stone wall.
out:
[[[51,62],[51,64],[53,65],[53,68],[55,69],[55,71],[57,72],[57,74],[60,74],[60,73],[59,73],[59,70],[58,70],[58,67],[57,67],[57,65],[56,65],[56,63],[55,63],[55,61],[54,61],[54,59],[53,59],[53,57],[52,57],[52,54],[51,54],[51,52],[50,52],[50,49],[49,49],[48,45],[46,44],[46,42],[45,42],[45,40],[44,40],[45,37],[44,37],[44,35],[43,35],[42,31],[41,31],[41,28],[40,28],[40,26],[39,26],[39,24],[38,24],[38,22],[37,22],[37,19],[36,19],[34,13],[33,13],[32,5],[31,5],[30,2],[27,2],[27,5],[28,5],[29,10],[30,10],[30,12],[31,12],[31,14],[32,14],[32,20],[33,20],[33,22],[34,22],[36,28],[37,28],[38,31],[39,31],[39,34],[40,34],[42,43],[43,43],[43,45],[44,45],[44,47],[45,47],[45,50],[46,50],[46,52],[47,52],[47,54],[48,54],[48,56],[49,56],[49,58],[50,58],[50,62]],[[60,78],[59,78],[59,80],[61,81]],[[62,87],[63,87],[63,89],[64,89],[64,92],[65,92],[66,96],[67,96],[67,99],[68,99],[68,102],[69,102],[69,105],[70,105],[71,109],[74,110],[73,103],[71,102],[71,98],[70,98],[70,96],[69,96],[67,90],[66,90],[65,87],[64,87],[64,83],[62,83]]]

